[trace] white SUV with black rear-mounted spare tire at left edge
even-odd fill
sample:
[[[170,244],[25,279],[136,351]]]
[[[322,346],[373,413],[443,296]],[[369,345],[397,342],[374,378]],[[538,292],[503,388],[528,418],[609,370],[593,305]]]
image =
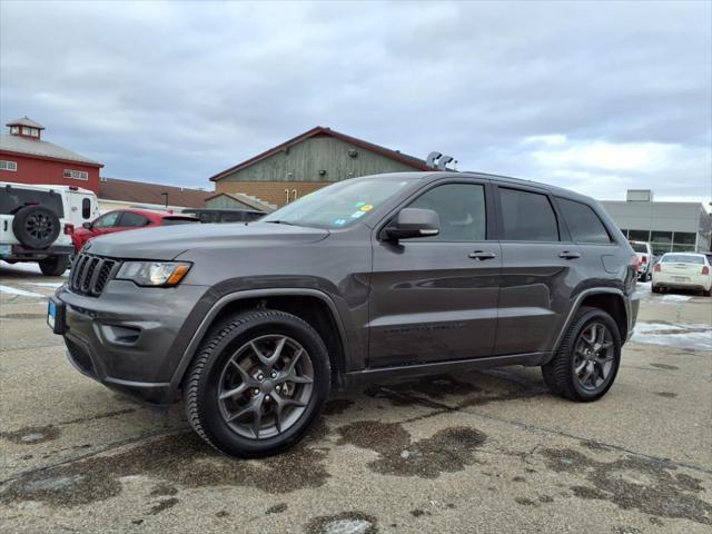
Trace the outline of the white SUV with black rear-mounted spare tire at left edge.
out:
[[[36,261],[42,274],[59,276],[75,254],[75,227],[98,215],[88,189],[0,181],[0,260]]]

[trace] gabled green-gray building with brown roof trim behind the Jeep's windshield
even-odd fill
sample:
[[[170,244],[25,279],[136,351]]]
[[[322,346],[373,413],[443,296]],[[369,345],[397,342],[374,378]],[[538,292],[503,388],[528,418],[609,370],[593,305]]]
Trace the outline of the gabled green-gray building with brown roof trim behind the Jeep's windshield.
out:
[[[251,201],[275,208],[335,181],[413,170],[432,169],[398,150],[317,126],[212,176],[216,196],[206,204],[239,208]],[[233,202],[233,194],[241,200]]]

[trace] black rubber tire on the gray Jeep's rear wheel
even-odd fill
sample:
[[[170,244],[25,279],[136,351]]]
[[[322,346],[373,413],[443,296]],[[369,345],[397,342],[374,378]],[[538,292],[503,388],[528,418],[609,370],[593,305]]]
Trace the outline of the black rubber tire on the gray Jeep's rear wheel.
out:
[[[607,374],[602,379],[602,383],[596,387],[587,388],[582,385],[575,372],[576,358],[581,358],[581,355],[574,352],[577,350],[580,346],[581,336],[592,327],[592,325],[602,325],[610,333],[612,345],[609,357],[612,359],[611,366],[606,367]],[[593,359],[591,362],[593,362]],[[591,365],[595,367],[595,364],[592,363]],[[615,380],[620,365],[621,333],[619,332],[617,325],[613,318],[602,309],[582,307],[574,316],[554,357],[551,362],[542,366],[542,374],[544,375],[544,382],[554,393],[571,400],[586,403],[597,400],[606,394]]]

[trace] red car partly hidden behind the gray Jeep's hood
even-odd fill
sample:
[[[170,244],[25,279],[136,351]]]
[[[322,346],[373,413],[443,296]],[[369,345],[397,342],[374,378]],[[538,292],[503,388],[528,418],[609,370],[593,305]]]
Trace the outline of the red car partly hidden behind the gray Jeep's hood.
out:
[[[151,226],[185,225],[199,222],[200,219],[187,215],[172,214],[170,211],[154,211],[150,209],[117,209],[95,219],[93,222],[85,222],[81,228],[75,228],[71,240],[75,249],[79,250],[92,237],[113,234],[115,231],[137,230]]]

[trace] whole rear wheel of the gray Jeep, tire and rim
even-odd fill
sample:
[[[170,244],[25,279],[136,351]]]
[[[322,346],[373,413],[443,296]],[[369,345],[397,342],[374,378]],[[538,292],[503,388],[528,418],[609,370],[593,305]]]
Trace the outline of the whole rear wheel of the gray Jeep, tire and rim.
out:
[[[581,308],[554,357],[542,366],[546,385],[571,400],[601,398],[613,385],[621,364],[621,334],[599,308]]]

